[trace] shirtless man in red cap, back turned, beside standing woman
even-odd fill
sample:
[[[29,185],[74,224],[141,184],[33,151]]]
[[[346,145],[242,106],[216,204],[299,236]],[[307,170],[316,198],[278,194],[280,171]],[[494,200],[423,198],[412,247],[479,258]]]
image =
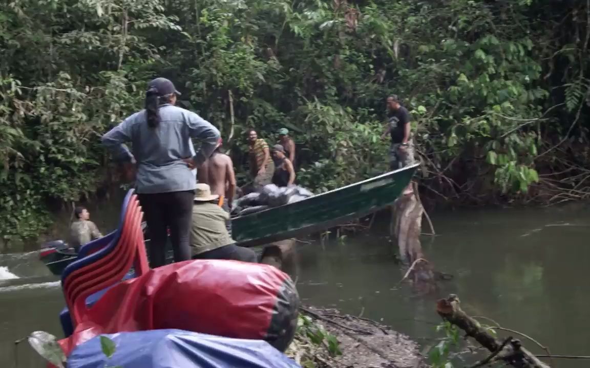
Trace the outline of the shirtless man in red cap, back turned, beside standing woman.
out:
[[[228,213],[231,211],[231,203],[235,194],[234,164],[230,156],[219,151],[221,138],[211,157],[205,160],[196,171],[196,179],[199,183],[209,184],[212,195],[219,195],[221,207]],[[231,235],[231,220],[225,223],[227,231]]]

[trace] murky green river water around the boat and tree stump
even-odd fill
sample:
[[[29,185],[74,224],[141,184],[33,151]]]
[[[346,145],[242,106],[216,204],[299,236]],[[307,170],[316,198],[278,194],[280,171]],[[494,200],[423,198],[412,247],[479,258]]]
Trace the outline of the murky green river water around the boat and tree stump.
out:
[[[425,254],[437,270],[454,275],[438,294],[417,296],[407,284],[398,285],[402,274],[383,219],[357,236],[301,244],[301,299],[362,313],[428,346],[438,337],[435,301],[454,293],[467,313],[526,333],[552,354],[590,355],[590,210],[568,205],[458,211],[434,214],[432,221],[437,236],[424,237]],[[34,330],[61,337],[57,316],[63,306],[58,278],[36,253],[0,256],[0,367],[13,366],[15,351],[19,367],[42,367],[26,343],[15,350],[14,341]],[[552,367],[589,364],[556,360]]]

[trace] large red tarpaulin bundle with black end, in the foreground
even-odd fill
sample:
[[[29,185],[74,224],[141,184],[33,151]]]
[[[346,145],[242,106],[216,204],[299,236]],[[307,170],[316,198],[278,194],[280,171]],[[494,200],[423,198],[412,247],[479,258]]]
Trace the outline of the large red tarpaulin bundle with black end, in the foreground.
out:
[[[112,287],[60,344],[68,356],[99,334],[181,329],[266,340],[284,351],[297,327],[298,308],[293,281],[273,266],[184,261]]]

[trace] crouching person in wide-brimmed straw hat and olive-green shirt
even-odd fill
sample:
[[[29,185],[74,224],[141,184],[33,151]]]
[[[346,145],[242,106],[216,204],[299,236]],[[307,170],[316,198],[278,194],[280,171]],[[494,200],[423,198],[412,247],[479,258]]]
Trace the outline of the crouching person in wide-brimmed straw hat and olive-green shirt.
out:
[[[198,183],[192,208],[191,247],[193,259],[258,261],[256,253],[237,246],[225,227],[230,214],[219,207],[219,195],[208,184]]]

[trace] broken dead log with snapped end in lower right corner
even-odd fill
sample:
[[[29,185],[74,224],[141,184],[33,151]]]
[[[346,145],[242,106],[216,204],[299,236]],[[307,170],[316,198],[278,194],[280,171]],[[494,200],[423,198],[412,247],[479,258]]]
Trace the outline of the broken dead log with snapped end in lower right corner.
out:
[[[520,346],[519,340],[512,339],[512,337],[504,342],[497,340],[487,329],[481,327],[476,320],[461,310],[459,303],[457,296],[451,294],[447,299],[438,300],[437,312],[443,320],[459,327],[465,331],[467,336],[472,337],[481,346],[490,350],[492,355],[476,364],[476,367],[501,361],[518,368],[550,368],[548,364],[541,362],[529,350]]]

